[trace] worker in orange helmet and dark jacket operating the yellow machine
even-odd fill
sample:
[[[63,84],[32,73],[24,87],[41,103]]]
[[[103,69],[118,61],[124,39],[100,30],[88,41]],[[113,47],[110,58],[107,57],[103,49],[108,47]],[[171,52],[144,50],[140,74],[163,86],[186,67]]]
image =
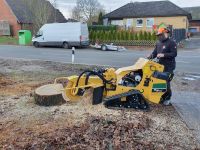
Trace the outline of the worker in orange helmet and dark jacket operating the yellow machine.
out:
[[[176,68],[175,57],[177,56],[177,45],[169,38],[170,30],[167,28],[159,28],[157,32],[158,42],[154,51],[148,56],[150,59],[158,58],[159,63],[164,65],[164,72],[169,72],[171,74],[171,80],[174,75],[174,70]],[[167,81],[167,92],[162,96],[161,103],[163,105],[171,105],[171,86],[170,81]]]

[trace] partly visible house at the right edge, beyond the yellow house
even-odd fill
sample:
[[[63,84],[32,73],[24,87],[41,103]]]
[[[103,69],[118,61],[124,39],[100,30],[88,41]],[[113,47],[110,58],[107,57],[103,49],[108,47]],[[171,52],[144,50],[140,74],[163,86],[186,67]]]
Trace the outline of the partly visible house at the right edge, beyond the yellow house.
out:
[[[189,22],[189,31],[200,33],[200,7],[185,7],[183,9],[192,14],[192,20]]]

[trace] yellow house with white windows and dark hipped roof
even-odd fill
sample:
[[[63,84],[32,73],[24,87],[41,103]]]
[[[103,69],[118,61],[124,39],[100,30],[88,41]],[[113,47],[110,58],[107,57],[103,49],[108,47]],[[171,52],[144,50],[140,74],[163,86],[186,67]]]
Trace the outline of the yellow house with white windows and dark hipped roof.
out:
[[[191,15],[170,1],[151,1],[128,3],[103,18],[104,25],[152,31],[161,24],[176,29],[188,29]]]

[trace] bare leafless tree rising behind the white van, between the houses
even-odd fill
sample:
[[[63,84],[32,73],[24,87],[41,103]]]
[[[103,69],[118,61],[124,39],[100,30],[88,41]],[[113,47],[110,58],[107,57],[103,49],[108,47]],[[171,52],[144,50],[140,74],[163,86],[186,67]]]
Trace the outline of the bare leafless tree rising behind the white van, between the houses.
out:
[[[104,10],[98,0],[77,0],[76,6],[72,11],[72,18],[85,21],[91,25],[92,22],[98,21],[100,12],[104,12]]]

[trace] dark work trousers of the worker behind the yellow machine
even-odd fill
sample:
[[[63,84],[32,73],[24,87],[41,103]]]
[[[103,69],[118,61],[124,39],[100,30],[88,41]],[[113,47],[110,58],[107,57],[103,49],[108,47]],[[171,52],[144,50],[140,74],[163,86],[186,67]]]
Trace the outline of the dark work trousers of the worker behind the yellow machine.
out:
[[[171,90],[170,82],[173,79],[174,72],[173,72],[173,70],[170,70],[167,67],[165,67],[164,72],[169,72],[171,74],[171,76],[170,76],[170,80],[167,81],[167,92],[162,96],[161,102],[163,102],[165,100],[170,100],[171,96],[172,96],[172,90]]]

